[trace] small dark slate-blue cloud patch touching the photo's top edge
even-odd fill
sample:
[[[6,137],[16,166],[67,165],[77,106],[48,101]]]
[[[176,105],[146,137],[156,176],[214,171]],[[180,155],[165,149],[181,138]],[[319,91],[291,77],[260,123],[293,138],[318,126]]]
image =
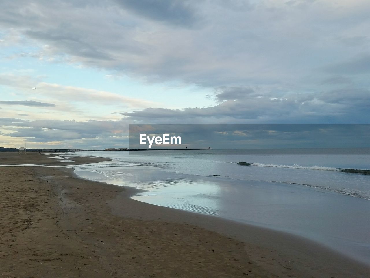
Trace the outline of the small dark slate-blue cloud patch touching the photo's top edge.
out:
[[[197,20],[192,1],[184,0],[115,0],[122,7],[149,19],[181,26],[192,26]],[[193,1],[194,4],[194,1]]]

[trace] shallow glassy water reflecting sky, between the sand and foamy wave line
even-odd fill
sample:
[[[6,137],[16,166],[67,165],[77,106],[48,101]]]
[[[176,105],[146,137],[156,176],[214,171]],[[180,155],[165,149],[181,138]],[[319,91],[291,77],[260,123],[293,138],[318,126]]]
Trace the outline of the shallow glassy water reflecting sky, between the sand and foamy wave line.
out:
[[[88,180],[146,191],[131,197],[137,201],[296,235],[370,265],[369,222],[364,217],[370,209],[367,200],[291,183],[239,181],[223,177],[225,173],[215,178],[162,171],[151,165],[158,159],[149,160],[147,166],[145,158],[135,164],[136,160],[128,157],[110,157],[122,162],[77,166],[75,173]]]

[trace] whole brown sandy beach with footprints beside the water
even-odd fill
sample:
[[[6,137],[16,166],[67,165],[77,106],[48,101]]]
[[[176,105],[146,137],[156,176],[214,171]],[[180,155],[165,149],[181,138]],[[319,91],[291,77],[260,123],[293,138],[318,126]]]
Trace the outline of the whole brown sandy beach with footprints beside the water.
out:
[[[81,153],[83,155],[83,153]],[[0,153],[1,277],[369,277],[297,236],[129,199],[38,153]]]

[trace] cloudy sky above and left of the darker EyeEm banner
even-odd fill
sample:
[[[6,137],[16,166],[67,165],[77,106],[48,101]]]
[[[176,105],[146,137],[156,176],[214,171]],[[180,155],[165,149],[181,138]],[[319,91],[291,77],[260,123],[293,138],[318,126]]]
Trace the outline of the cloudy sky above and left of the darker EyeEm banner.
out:
[[[367,0],[2,0],[0,146],[128,148],[130,123],[369,123],[369,14]]]

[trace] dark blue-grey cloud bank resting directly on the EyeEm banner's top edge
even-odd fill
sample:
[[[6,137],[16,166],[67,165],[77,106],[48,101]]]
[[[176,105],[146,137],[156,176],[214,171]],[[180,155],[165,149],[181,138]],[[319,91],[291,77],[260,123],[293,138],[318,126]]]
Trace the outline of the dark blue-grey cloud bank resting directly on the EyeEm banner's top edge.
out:
[[[357,88],[285,93],[224,87],[215,91],[216,99],[223,101],[212,107],[147,108],[121,114],[142,123],[367,123],[369,95],[369,90]]]

